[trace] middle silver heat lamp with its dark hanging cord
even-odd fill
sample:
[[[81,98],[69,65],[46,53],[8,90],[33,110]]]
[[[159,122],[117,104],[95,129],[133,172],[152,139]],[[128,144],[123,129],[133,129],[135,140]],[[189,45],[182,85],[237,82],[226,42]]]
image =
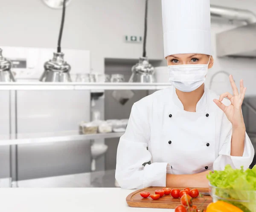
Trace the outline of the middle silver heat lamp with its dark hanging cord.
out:
[[[58,37],[57,53],[53,53],[53,59],[44,64],[44,73],[39,79],[41,82],[71,82],[71,66],[64,61],[64,54],[61,52],[61,37],[63,32],[66,11],[66,0],[63,1],[61,28]]]

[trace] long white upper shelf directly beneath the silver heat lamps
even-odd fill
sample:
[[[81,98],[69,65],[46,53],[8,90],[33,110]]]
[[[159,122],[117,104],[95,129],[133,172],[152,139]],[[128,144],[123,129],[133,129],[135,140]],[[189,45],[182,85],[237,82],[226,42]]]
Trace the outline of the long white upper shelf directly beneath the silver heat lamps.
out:
[[[0,82],[0,90],[160,90],[169,83]]]

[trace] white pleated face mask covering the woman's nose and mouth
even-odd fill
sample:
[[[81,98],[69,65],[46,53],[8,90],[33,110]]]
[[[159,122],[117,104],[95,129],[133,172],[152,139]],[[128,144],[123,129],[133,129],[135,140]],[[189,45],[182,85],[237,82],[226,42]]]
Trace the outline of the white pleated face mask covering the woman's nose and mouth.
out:
[[[211,56],[209,58],[210,62]],[[168,65],[169,81],[180,91],[191,92],[205,82],[208,64]]]

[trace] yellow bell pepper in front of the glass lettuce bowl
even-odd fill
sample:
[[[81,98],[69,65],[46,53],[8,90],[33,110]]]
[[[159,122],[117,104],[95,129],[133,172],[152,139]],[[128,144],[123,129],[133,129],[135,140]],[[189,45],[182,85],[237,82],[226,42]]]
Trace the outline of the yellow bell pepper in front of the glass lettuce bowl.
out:
[[[232,204],[229,204],[223,201],[217,201],[215,203],[210,203],[207,206],[206,212],[243,212],[243,211],[238,207],[233,206]]]

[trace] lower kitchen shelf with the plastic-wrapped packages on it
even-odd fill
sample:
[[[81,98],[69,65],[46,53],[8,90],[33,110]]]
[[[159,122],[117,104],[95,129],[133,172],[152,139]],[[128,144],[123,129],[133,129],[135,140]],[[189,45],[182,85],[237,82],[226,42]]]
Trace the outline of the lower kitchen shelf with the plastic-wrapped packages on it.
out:
[[[16,145],[16,144],[41,144],[49,142],[64,142],[64,141],[81,141],[94,139],[110,139],[119,138],[122,133],[98,133],[90,135],[81,135],[78,131],[64,131],[53,133],[35,133],[35,134],[18,134],[18,139],[0,140],[0,146]]]

